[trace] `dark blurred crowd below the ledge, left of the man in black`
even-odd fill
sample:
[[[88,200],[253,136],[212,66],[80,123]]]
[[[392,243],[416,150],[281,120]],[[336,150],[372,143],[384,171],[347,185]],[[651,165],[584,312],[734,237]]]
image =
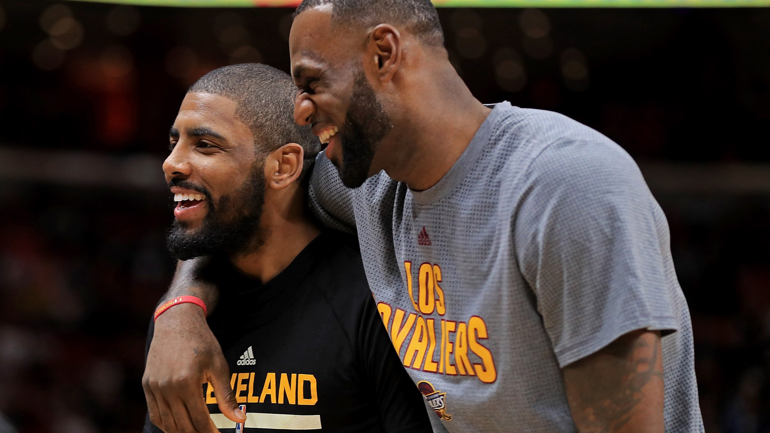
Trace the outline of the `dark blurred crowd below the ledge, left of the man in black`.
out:
[[[162,199],[0,186],[0,412],[19,431],[140,430],[145,333],[172,270]]]

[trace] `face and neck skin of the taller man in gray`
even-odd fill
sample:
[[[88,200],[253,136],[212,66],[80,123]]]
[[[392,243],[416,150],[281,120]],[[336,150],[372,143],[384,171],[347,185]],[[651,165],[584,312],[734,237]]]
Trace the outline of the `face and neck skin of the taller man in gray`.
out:
[[[345,153],[351,146],[340,146],[340,135],[345,134],[350,113],[360,110],[363,117],[364,112],[380,111],[359,106],[363,102],[357,90],[371,89],[371,97],[365,92],[363,99],[377,101],[389,127],[383,133],[377,123],[364,122],[369,119],[358,122],[366,129],[356,135],[377,142],[367,176],[385,170],[413,190],[427,190],[457,162],[491,110],[457,76],[443,47],[424,45],[395,23],[365,29],[334,22],[332,9],[320,5],[294,18],[289,45],[292,75],[300,89],[296,123],[312,125],[316,136],[338,128],[326,156],[346,185],[360,184],[363,168],[346,169]],[[367,86],[357,85],[360,73]]]

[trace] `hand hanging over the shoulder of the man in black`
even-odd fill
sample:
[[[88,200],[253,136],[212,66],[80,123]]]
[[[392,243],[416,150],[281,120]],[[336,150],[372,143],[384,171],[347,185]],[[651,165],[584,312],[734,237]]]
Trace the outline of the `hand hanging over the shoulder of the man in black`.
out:
[[[246,421],[229,379],[222,348],[200,307],[177,305],[158,317],[142,378],[152,424],[166,433],[218,433],[203,399],[206,382],[227,418]]]

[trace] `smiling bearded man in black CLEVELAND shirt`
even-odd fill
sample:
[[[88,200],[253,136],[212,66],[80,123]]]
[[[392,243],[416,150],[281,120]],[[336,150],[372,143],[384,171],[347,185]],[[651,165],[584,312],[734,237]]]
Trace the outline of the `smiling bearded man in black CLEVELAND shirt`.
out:
[[[156,425],[167,433],[431,431],[382,326],[357,241],[322,232],[306,214],[303,177],[320,143],[293,123],[295,92],[283,72],[233,65],[203,76],[182,101],[163,164],[177,202],[169,250],[179,260],[206,257],[196,259],[206,262],[197,277],[220,290],[207,321],[231,380],[187,378],[176,386],[203,384],[203,398],[180,402],[146,375],[147,433]],[[194,304],[173,308],[205,314]],[[148,347],[174,344],[153,341],[152,329]],[[215,389],[239,411],[217,404]],[[210,418],[174,418],[179,404],[208,404]]]

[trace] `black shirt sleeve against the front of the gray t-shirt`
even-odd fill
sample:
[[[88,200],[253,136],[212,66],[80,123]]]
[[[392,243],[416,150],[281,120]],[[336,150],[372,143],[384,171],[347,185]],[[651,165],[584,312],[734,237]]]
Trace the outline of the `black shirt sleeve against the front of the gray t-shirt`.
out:
[[[363,310],[359,356],[385,433],[433,433],[422,394],[404,369],[372,298]]]

